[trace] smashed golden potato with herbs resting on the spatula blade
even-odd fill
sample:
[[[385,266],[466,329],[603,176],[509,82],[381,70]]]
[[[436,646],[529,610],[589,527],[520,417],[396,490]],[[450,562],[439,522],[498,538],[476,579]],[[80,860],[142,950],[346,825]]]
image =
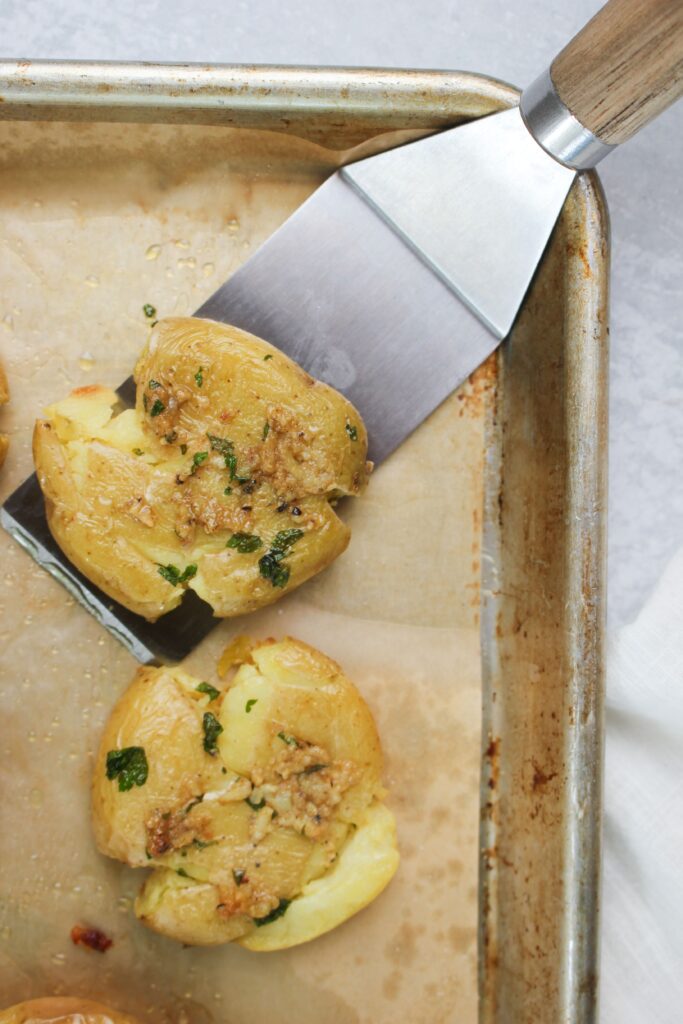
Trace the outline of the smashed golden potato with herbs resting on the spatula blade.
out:
[[[105,594],[156,620],[187,587],[221,617],[278,600],[346,548],[333,503],[365,487],[368,438],[342,395],[233,327],[160,321],[134,410],[78,388],[34,459],[52,535]]]

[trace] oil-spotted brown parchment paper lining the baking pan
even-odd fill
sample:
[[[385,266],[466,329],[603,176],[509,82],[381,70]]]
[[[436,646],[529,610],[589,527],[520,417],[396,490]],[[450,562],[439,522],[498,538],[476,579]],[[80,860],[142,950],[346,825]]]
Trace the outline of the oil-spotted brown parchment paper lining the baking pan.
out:
[[[12,401],[0,477],[31,469],[33,420],[79,384],[118,384],[141,307],[196,308],[336,165],[295,138],[229,128],[0,124],[0,358]],[[347,553],[187,662],[212,678],[237,633],[292,634],[336,657],[386,754],[401,865],[310,945],[187,949],[139,925],[140,884],[101,858],[88,784],[135,665],[9,538],[0,538],[0,992],[83,994],[163,1022],[411,1024],[476,1019],[480,527],[489,362],[346,503]],[[74,947],[76,923],[114,938]]]

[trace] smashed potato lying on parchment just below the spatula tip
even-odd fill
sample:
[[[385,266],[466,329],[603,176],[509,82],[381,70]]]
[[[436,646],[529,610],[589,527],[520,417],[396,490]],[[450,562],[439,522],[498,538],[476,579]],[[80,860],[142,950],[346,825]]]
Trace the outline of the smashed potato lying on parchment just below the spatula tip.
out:
[[[92,784],[102,853],[154,867],[145,925],[196,945],[283,949],[361,909],[398,864],[370,710],[298,640],[243,646],[219,689],[140,669]]]

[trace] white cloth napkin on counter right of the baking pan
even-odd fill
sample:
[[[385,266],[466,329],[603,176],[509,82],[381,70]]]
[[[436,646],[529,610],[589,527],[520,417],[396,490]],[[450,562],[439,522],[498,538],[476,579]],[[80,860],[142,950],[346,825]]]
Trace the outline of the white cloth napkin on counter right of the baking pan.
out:
[[[683,550],[608,645],[602,1024],[683,1022]]]

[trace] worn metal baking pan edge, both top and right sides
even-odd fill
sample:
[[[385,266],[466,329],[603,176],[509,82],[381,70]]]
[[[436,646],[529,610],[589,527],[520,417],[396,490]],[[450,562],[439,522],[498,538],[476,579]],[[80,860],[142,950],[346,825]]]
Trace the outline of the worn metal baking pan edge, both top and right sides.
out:
[[[380,133],[434,130],[515,96],[449,72],[0,62],[0,119],[240,125],[341,151],[374,152]],[[486,414],[482,1024],[597,1015],[607,275],[591,174],[498,353]]]

